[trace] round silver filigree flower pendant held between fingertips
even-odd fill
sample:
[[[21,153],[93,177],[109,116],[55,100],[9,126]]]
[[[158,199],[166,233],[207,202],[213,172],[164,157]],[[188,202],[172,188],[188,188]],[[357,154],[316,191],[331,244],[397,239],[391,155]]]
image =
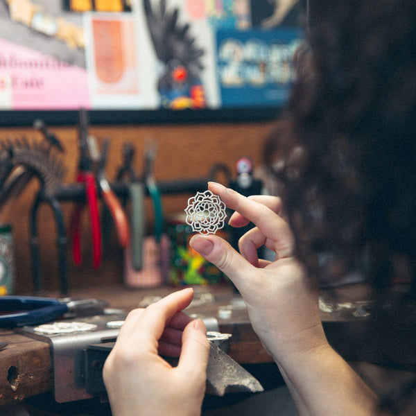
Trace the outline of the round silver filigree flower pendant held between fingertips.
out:
[[[227,217],[225,203],[211,191],[197,192],[189,198],[185,213],[187,224],[200,234],[215,234],[224,227]]]

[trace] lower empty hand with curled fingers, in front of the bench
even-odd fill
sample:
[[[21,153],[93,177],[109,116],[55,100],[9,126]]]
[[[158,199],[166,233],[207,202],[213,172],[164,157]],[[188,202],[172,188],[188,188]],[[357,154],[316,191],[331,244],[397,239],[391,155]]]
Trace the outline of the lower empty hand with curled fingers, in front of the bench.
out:
[[[103,368],[114,416],[200,415],[209,344],[203,322],[182,312],[192,297],[184,289],[129,313]],[[177,367],[159,354],[179,355]]]

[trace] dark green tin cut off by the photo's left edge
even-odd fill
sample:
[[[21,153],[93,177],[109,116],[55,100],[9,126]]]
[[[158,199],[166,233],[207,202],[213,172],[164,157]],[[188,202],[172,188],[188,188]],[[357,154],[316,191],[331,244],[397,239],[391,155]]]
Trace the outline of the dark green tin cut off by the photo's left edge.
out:
[[[14,282],[15,257],[12,227],[10,224],[0,224],[0,295],[13,293]]]

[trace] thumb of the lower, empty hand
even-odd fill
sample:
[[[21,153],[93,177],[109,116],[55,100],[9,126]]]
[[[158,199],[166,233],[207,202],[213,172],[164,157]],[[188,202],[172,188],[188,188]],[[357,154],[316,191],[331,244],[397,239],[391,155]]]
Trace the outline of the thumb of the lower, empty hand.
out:
[[[186,374],[205,377],[208,355],[207,328],[202,320],[193,320],[187,324],[182,334],[182,350],[177,367]]]

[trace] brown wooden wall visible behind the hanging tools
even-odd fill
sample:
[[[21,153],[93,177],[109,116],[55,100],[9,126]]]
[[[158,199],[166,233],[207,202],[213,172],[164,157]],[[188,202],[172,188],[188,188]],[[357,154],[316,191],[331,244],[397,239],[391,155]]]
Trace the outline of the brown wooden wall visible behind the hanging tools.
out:
[[[216,162],[223,162],[235,172],[235,162],[239,157],[249,156],[255,166],[261,164],[261,149],[264,138],[271,129],[271,123],[225,123],[225,124],[187,124],[187,125],[122,125],[92,126],[90,133],[98,140],[111,139],[106,173],[110,180],[121,165],[121,149],[125,141],[136,148],[135,168],[141,171],[142,153],[146,138],[157,141],[155,177],[157,180],[174,180],[186,177],[206,177],[209,168]],[[66,152],[64,164],[67,175],[64,182],[71,182],[76,176],[78,162],[77,137],[75,127],[51,128],[62,141]],[[31,128],[0,129],[0,139],[22,137],[39,139],[40,133]],[[28,247],[28,212],[31,208],[38,184],[33,180],[17,200],[9,203],[1,213],[0,222],[10,222],[15,241],[15,293],[31,293],[32,272]],[[164,197],[166,215],[183,211],[189,195]],[[150,202],[148,220],[151,220]],[[63,204],[66,227],[68,227],[71,203]],[[42,278],[47,290],[58,288],[58,261],[55,249],[55,224],[49,207],[42,206],[39,213],[40,242],[42,259]],[[88,218],[85,215],[83,227],[83,266],[76,268],[68,250],[69,284],[71,288],[114,284],[123,281],[123,256],[116,242],[111,243],[105,254],[102,266],[94,270],[91,265],[91,241],[89,239]]]

